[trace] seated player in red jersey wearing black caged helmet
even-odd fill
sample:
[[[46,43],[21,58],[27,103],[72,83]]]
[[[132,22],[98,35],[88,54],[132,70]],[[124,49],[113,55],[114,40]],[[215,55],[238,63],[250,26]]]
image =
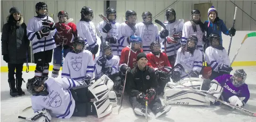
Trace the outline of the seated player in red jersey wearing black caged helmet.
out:
[[[171,65],[168,61],[168,57],[165,53],[161,52],[161,45],[157,41],[153,41],[150,44],[151,52],[146,55],[148,59],[148,65],[154,68],[159,89],[158,94],[163,92],[165,84],[171,81]]]

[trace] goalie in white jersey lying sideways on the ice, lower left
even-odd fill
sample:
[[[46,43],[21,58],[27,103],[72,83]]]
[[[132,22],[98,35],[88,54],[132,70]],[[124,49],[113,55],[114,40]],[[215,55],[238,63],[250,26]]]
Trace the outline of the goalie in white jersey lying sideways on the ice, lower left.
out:
[[[107,84],[102,81],[105,79]],[[91,86],[88,87],[89,85]],[[64,119],[71,116],[97,115],[101,118],[110,114],[110,99],[115,95],[109,90],[112,86],[113,82],[106,75],[94,84],[68,78],[48,78],[42,81],[36,77],[26,83],[27,91],[33,95],[31,103],[34,116],[43,114],[34,122],[50,122],[51,116]],[[92,99],[96,101],[92,102]]]

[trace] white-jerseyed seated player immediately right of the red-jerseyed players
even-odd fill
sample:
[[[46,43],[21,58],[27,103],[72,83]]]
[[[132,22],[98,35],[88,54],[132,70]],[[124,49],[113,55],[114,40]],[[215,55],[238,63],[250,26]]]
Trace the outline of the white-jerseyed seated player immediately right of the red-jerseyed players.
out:
[[[181,64],[185,72],[191,77],[199,77],[199,72],[202,69],[202,53],[197,46],[197,37],[191,35],[188,37],[187,45],[185,47],[179,48],[177,52],[177,58],[175,65]],[[171,79],[173,82],[177,82],[180,79],[188,77],[187,73],[181,72],[179,68],[175,68],[171,73]]]

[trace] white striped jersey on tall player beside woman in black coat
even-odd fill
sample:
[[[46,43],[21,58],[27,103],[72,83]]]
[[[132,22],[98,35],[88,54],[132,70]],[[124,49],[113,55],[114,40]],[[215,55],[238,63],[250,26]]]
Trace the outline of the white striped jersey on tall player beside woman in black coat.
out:
[[[45,16],[44,18],[39,18],[34,16],[33,18],[29,19],[29,22],[26,27],[26,34],[27,38],[32,42],[32,48],[33,48],[33,54],[37,52],[43,52],[44,49],[44,41],[45,43],[45,50],[51,50],[56,48],[56,44],[54,41],[54,35],[57,33],[57,30],[50,30],[50,34],[48,37],[41,38],[40,40],[37,39],[36,37],[36,32],[42,30],[44,27],[42,26],[42,20],[47,19],[51,20],[53,22],[53,19],[50,16]]]

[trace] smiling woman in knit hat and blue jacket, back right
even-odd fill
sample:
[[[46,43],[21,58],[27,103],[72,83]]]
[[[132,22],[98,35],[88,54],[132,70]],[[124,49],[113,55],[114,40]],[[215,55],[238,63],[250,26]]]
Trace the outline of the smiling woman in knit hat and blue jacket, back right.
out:
[[[221,45],[222,45],[222,33],[225,35],[234,36],[236,34],[236,29],[231,27],[230,30],[227,29],[223,20],[218,17],[218,12],[216,8],[213,6],[208,9],[208,20],[205,21],[205,31],[206,37],[208,38],[211,33],[218,33],[221,37]],[[207,48],[209,46],[209,42],[207,43]]]

